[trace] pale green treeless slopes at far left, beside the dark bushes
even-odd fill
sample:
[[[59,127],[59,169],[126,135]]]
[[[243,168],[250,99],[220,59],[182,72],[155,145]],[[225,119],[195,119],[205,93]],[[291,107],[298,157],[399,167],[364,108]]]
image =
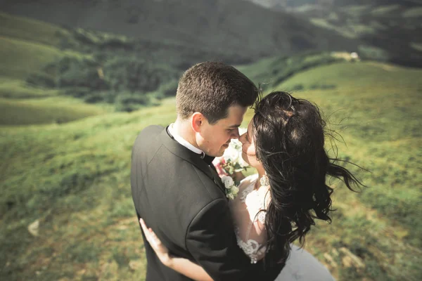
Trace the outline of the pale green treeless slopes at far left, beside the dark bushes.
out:
[[[68,30],[5,13],[0,13],[0,22],[0,125],[63,123],[113,111],[63,96],[56,87],[27,83],[60,58],[87,56],[60,48],[60,38],[72,40]]]

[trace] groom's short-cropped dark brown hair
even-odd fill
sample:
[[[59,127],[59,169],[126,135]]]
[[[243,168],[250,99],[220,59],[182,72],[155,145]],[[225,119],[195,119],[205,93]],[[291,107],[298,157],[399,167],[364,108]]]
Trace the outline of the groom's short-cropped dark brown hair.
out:
[[[257,96],[255,84],[236,68],[217,62],[198,63],[179,80],[177,114],[187,119],[200,112],[215,124],[227,117],[230,106],[251,106]]]

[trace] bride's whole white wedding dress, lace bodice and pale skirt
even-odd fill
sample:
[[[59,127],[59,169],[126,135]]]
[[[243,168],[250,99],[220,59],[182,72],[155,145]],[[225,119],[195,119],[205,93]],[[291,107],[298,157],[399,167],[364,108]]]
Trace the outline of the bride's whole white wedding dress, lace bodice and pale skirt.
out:
[[[255,189],[257,181],[257,174],[244,178],[238,186],[238,196],[230,201],[238,246],[251,263],[256,263],[265,254],[265,209],[271,200],[269,187]],[[276,278],[276,281],[281,280],[331,281],[334,278],[309,252],[291,244],[286,266]]]

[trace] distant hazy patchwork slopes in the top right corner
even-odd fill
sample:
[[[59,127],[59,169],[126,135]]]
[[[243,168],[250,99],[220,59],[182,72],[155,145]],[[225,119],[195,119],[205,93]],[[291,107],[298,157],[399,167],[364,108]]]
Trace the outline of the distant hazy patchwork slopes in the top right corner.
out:
[[[358,39],[362,58],[421,67],[422,1],[268,1],[272,10],[288,12],[312,24]]]

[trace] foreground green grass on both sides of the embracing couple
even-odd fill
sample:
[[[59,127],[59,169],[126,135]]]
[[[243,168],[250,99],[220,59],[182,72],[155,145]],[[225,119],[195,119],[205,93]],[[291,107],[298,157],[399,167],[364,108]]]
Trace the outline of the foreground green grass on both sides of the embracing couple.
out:
[[[242,70],[255,77],[276,68],[277,59]],[[319,104],[347,143],[338,143],[339,156],[371,171],[350,166],[369,186],[360,193],[332,181],[333,223],[318,223],[307,240],[306,249],[338,280],[421,276],[421,74],[380,63],[336,63],[274,85],[301,84],[294,95]],[[335,87],[313,88],[321,83]],[[167,99],[68,124],[2,127],[0,279],[143,280],[130,153],[141,129],[174,120],[174,107]]]

